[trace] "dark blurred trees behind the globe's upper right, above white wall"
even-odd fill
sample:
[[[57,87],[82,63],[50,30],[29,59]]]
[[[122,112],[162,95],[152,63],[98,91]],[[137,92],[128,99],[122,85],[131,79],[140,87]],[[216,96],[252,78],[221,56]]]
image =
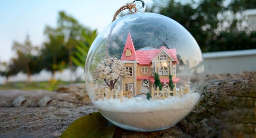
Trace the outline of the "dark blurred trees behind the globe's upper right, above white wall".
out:
[[[170,17],[196,39],[202,52],[256,48],[256,32],[248,31],[245,10],[256,0],[155,1],[148,12]]]

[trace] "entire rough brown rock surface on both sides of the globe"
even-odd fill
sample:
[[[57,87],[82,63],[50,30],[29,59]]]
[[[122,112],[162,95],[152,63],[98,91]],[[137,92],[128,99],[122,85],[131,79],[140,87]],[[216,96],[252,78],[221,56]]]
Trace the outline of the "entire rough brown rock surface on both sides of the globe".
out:
[[[254,137],[256,73],[210,75],[206,80],[198,105],[177,125],[156,132],[117,127],[114,137]],[[97,112],[84,84],[70,88],[63,87],[61,93],[0,91],[0,137],[59,137],[76,118]],[[27,100],[13,107],[18,95]],[[37,102],[44,95],[52,101],[40,108]]]

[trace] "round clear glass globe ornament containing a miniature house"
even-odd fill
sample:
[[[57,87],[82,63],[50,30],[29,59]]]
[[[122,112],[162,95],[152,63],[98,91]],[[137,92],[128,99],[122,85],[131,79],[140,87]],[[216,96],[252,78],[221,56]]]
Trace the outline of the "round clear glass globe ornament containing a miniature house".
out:
[[[85,64],[87,93],[113,124],[133,131],[169,128],[196,106],[204,61],[192,35],[166,16],[138,12],[110,23]]]

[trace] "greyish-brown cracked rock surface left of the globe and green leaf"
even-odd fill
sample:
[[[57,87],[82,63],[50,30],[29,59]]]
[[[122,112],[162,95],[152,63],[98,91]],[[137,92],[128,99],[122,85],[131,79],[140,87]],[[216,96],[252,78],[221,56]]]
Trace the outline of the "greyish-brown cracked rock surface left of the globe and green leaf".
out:
[[[76,89],[68,93],[0,90],[0,138],[60,137],[75,119],[97,112],[87,93]],[[21,107],[13,107],[12,101],[19,95],[26,101]],[[45,95],[52,100],[46,107],[39,107]]]

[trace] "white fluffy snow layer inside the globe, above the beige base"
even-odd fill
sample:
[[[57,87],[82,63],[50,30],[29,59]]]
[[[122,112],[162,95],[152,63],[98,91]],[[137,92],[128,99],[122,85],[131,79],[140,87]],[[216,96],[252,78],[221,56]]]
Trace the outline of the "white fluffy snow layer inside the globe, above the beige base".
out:
[[[131,99],[100,99],[92,101],[96,108],[109,112],[153,112],[163,110],[189,110],[191,111],[197,104],[200,95],[198,93],[188,93],[182,97],[170,97],[166,99],[147,100],[145,96],[133,97]]]

